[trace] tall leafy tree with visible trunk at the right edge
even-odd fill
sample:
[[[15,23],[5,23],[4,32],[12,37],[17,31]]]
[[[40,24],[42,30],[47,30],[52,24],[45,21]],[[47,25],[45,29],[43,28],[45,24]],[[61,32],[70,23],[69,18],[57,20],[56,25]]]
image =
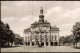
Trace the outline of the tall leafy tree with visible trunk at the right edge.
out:
[[[72,29],[73,35],[74,35],[74,43],[77,43],[80,41],[80,22],[76,22],[75,25],[73,25]]]

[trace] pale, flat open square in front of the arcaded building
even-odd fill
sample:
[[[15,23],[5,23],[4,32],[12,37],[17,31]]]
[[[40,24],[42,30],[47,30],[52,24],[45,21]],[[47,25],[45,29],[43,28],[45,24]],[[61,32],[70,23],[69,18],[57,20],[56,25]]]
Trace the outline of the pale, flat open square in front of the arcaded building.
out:
[[[69,46],[20,46],[11,48],[1,48],[1,52],[80,52],[80,49],[75,49]]]

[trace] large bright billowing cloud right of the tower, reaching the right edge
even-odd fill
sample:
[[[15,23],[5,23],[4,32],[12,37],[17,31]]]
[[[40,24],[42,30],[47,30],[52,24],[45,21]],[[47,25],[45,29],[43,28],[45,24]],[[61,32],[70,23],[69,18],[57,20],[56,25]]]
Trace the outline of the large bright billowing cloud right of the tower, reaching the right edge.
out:
[[[73,10],[65,9],[59,6],[47,9],[45,19],[51,25],[57,25],[60,28],[60,36],[71,34],[72,26],[75,22],[80,21],[80,8]]]

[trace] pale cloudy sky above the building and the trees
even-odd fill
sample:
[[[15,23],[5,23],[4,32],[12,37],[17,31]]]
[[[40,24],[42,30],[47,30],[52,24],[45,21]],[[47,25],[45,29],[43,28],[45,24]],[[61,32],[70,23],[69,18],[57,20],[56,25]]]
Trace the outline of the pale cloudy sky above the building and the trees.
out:
[[[73,25],[80,21],[79,1],[1,1],[1,20],[23,37],[24,29],[39,20],[41,6],[44,19],[59,27],[60,36],[72,34]]]

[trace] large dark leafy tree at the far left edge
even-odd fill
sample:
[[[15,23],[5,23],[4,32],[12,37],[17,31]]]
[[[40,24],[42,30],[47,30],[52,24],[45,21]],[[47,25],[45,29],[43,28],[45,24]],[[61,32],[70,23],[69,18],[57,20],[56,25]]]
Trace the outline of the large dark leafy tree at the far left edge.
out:
[[[9,24],[4,24],[2,21],[0,21],[0,35],[1,35],[1,46],[9,46],[9,43],[13,43],[14,40],[14,33],[12,30],[10,30]]]

